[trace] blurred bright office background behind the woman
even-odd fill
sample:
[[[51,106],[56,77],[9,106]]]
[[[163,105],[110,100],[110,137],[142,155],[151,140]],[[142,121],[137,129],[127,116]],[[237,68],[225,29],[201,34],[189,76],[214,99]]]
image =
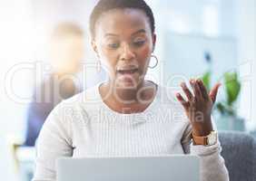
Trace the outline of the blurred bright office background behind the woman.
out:
[[[105,79],[88,31],[96,2],[0,1],[1,180],[30,180],[34,142],[48,113]],[[255,1],[147,2],[156,19],[159,60],[147,78],[173,87],[192,77],[208,88],[221,81],[213,111],[218,129],[256,137]]]

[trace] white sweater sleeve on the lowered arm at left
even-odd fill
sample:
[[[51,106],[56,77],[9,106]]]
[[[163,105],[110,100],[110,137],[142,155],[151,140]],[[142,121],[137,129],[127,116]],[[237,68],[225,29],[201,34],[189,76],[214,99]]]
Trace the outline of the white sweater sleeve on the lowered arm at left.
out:
[[[57,106],[45,120],[36,141],[35,172],[33,181],[54,181],[55,160],[58,157],[72,157],[73,148],[70,126]]]

